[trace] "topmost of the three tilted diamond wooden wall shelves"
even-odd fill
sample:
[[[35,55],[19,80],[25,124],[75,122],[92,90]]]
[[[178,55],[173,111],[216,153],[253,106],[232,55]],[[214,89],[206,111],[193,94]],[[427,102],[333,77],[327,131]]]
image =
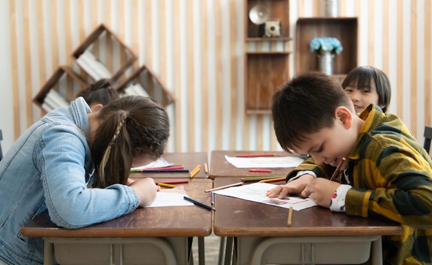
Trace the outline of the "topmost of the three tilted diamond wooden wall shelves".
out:
[[[97,27],[72,53],[77,64],[95,81],[115,82],[138,57],[104,24]]]

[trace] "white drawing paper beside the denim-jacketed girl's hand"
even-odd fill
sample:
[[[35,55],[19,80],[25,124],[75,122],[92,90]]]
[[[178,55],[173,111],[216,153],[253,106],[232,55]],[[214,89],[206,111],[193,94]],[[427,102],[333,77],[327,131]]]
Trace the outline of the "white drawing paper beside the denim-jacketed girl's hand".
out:
[[[193,206],[194,204],[192,202],[183,199],[184,196],[188,196],[186,190],[184,190],[184,186],[164,188],[157,192],[155,202],[146,207]]]

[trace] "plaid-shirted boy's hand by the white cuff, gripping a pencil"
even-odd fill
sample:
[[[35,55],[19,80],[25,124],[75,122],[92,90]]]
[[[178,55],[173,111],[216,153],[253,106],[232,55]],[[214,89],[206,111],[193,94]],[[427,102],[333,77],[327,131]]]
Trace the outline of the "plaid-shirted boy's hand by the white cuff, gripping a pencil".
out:
[[[304,188],[303,193],[311,198],[315,204],[329,208],[331,197],[340,185],[341,184],[336,181],[317,177]]]

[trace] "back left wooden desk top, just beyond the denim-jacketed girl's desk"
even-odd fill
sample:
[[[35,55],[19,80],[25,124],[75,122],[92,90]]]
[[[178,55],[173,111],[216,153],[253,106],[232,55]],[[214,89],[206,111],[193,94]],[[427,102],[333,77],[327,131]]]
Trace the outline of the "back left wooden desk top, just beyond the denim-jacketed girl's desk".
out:
[[[201,165],[201,170],[195,175],[195,178],[207,178],[208,173],[204,171],[204,163],[208,164],[208,155],[204,152],[186,152],[186,153],[165,153],[162,157],[173,165],[184,166],[184,169],[188,169],[189,173],[130,173],[131,178],[135,177],[152,177],[155,178],[175,178],[184,179],[189,178],[189,174],[192,170]]]

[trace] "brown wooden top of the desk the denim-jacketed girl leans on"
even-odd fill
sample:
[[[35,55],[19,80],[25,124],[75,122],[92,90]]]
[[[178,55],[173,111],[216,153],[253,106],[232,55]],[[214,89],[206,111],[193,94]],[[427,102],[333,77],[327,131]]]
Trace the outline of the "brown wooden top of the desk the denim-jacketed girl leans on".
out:
[[[210,205],[210,179],[190,179],[184,186],[188,197]],[[212,211],[200,206],[165,206],[137,210],[85,228],[66,229],[53,224],[45,211],[21,233],[26,237],[205,237],[212,231]]]

